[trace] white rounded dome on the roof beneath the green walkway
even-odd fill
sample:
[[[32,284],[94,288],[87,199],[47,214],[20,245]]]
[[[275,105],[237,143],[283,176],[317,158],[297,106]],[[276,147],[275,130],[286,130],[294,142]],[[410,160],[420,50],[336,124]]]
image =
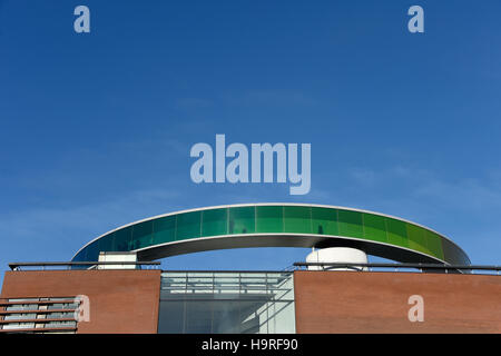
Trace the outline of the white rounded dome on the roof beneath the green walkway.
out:
[[[313,250],[306,256],[306,263],[325,263],[325,266],[308,266],[308,270],[367,270],[367,267],[356,266],[345,268],[330,268],[328,264],[366,264],[367,255],[360,249],[351,247],[330,247]]]

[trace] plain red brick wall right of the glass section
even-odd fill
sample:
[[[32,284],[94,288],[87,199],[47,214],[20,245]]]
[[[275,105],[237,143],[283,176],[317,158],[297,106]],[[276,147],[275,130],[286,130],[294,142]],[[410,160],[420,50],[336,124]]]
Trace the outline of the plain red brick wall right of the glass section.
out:
[[[297,333],[501,333],[501,276],[304,270],[294,293]]]

